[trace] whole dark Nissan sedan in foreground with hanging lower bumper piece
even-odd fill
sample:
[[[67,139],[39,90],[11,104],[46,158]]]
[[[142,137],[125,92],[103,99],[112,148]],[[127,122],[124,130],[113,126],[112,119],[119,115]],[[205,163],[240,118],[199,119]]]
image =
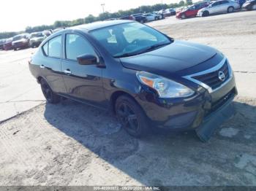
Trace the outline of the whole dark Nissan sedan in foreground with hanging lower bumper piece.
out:
[[[196,130],[207,141],[233,114],[237,94],[221,52],[128,20],[52,34],[32,55],[29,69],[48,103],[65,97],[112,109],[136,137],[154,127]]]

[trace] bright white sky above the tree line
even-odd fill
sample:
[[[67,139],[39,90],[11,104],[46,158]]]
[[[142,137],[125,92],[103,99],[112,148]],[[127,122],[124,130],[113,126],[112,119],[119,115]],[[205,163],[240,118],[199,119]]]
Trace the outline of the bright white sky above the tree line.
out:
[[[162,0],[170,4],[178,0]],[[105,11],[116,12],[140,5],[161,3],[161,0],[3,0],[0,11],[0,31],[22,31],[26,26],[53,24],[56,20],[75,20],[89,14],[97,16]]]

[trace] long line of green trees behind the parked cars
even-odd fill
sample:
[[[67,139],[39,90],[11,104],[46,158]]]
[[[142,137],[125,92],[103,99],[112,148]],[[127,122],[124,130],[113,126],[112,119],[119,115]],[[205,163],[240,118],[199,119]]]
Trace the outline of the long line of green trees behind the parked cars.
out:
[[[56,20],[53,25],[42,25],[42,26],[27,26],[25,31],[19,31],[19,32],[0,32],[0,39],[7,39],[9,37],[15,36],[17,34],[26,32],[26,33],[32,33],[37,31],[44,31],[48,29],[55,29],[60,27],[71,27],[71,26],[78,26],[86,23],[93,23],[95,21],[99,20],[107,20],[110,18],[118,18],[118,17],[124,17],[126,15],[132,15],[140,12],[154,12],[160,9],[168,9],[168,8],[176,8],[176,7],[183,7],[185,5],[192,4],[192,0],[186,0],[186,1],[179,1],[179,3],[175,4],[154,4],[154,5],[148,5],[148,6],[140,6],[135,9],[128,9],[128,10],[119,10],[118,12],[102,12],[97,17],[94,15],[88,15],[85,18],[78,18],[76,20]]]

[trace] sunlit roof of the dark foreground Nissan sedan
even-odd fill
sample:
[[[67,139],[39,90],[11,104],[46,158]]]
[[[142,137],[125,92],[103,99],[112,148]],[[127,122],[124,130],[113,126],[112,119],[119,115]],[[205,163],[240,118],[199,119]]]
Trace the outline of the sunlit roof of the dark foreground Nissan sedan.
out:
[[[99,28],[105,28],[108,26],[115,26],[122,23],[132,23],[133,20],[105,20],[105,21],[98,21],[94,23],[84,24],[80,26],[73,26],[72,29],[82,29],[86,31],[93,31]],[[69,28],[70,29],[70,28]]]

